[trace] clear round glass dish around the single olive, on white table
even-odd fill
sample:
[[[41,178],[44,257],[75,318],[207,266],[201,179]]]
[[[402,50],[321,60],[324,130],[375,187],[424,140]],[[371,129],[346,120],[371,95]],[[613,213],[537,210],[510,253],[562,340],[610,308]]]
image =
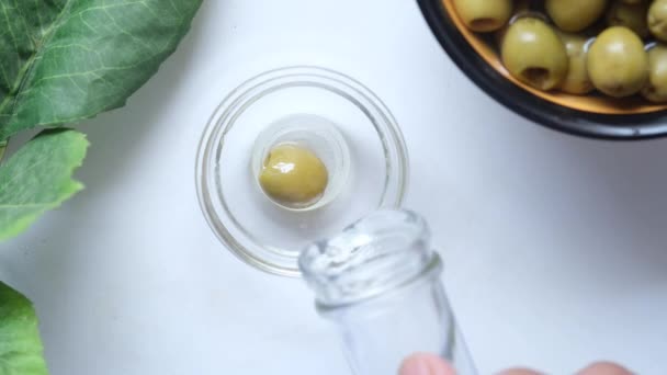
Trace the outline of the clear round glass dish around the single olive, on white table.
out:
[[[295,138],[335,174],[304,209],[275,204],[257,181],[265,148]],[[249,79],[222,101],[202,135],[195,179],[202,212],[226,248],[262,271],[298,276],[306,245],[402,205],[408,157],[396,121],[371,90],[334,70],[289,67]]]

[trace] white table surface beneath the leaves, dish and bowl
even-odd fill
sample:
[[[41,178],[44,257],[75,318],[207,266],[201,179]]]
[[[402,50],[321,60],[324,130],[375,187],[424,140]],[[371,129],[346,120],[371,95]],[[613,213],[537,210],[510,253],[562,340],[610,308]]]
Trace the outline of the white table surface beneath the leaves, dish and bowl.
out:
[[[0,279],[35,302],[54,375],[347,373],[309,291],[234,258],[195,196],[218,101],[294,64],[357,77],[402,124],[407,206],[436,231],[481,373],[599,359],[667,373],[667,141],[587,140],[510,113],[411,0],[208,0],[128,105],[81,127],[88,189],[1,245]]]

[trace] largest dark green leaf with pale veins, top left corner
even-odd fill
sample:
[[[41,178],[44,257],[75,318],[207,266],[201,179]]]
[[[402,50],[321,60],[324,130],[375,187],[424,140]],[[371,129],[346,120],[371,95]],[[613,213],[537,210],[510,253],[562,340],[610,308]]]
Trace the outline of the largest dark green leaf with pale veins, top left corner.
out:
[[[202,0],[0,0],[0,140],[120,107]]]

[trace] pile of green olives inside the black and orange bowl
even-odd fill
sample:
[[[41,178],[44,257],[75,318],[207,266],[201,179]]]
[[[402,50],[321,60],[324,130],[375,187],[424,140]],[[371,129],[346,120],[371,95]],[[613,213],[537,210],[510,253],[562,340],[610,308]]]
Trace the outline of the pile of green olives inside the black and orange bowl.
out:
[[[453,0],[535,89],[667,102],[667,0]],[[665,43],[665,44],[664,44]]]

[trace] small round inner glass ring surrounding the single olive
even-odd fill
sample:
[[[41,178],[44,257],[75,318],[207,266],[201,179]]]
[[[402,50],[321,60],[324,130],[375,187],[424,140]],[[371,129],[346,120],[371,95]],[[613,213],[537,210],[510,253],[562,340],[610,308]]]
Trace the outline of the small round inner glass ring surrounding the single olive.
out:
[[[259,177],[269,152],[280,145],[295,145],[306,148],[321,160],[327,168],[329,180],[321,196],[315,202],[289,204],[269,196],[256,181],[259,190],[269,201],[291,211],[312,211],[334,201],[341,192],[350,173],[350,149],[336,124],[312,114],[294,114],[269,125],[255,141],[252,150],[252,174]]]

